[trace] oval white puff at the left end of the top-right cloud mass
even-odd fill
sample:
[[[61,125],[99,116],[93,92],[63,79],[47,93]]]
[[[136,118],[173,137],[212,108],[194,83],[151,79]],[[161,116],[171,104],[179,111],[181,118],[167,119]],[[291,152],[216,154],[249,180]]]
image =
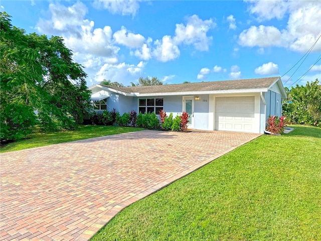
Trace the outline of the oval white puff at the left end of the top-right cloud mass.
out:
[[[281,45],[281,32],[273,26],[251,26],[239,36],[238,43],[247,47],[270,47]]]

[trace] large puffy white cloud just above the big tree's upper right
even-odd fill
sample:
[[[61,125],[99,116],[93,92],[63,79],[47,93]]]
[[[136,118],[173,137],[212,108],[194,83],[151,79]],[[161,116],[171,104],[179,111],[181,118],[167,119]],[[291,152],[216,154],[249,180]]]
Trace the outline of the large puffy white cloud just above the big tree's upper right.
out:
[[[94,28],[94,22],[84,20],[87,8],[82,3],[70,7],[50,4],[51,19],[40,19],[36,28],[40,33],[63,36],[67,48],[74,52],[115,57],[119,48],[112,43],[112,30]]]

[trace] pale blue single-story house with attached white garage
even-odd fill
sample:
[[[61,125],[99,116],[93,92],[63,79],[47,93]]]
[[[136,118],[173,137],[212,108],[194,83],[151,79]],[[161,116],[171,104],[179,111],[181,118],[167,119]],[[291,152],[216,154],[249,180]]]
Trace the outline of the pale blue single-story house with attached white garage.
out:
[[[96,111],[115,108],[120,114],[164,109],[190,115],[189,128],[264,133],[268,115],[281,115],[286,93],[280,77],[154,86],[89,87]]]

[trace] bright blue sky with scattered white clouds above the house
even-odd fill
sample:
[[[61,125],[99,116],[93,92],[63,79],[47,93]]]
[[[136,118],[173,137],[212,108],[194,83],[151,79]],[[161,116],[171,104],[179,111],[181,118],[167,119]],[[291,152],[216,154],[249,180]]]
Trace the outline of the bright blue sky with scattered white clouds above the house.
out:
[[[2,1],[4,11],[27,33],[62,36],[88,86],[282,76],[321,35],[319,1]],[[320,80],[321,60],[299,79],[320,53],[321,38],[284,85]]]

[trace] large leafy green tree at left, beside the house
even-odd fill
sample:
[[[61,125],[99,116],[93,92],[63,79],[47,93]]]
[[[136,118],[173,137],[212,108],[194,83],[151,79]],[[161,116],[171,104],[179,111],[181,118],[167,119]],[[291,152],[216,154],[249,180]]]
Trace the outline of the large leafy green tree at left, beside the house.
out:
[[[90,107],[86,73],[62,38],[26,34],[10,18],[0,13],[0,138],[24,138],[35,125],[73,129]]]

